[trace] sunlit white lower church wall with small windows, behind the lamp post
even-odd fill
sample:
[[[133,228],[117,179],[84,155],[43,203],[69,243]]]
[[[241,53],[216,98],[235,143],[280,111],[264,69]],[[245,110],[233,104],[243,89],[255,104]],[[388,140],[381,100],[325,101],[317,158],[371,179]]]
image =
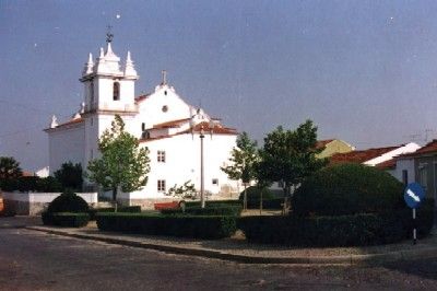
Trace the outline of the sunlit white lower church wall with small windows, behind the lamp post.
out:
[[[231,156],[236,136],[233,135],[205,135],[203,139],[204,159],[204,189],[211,195],[223,191],[237,191],[238,183],[229,181],[227,175],[220,170]],[[165,181],[165,193],[174,185],[181,186],[187,181],[194,184],[200,190],[200,137],[198,133],[185,133],[172,138],[164,138],[143,142],[150,150],[151,173],[149,183],[141,190],[131,194],[131,198],[165,197],[157,190],[157,181]],[[165,151],[165,163],[157,161],[157,152]],[[213,183],[216,182],[216,184]]]

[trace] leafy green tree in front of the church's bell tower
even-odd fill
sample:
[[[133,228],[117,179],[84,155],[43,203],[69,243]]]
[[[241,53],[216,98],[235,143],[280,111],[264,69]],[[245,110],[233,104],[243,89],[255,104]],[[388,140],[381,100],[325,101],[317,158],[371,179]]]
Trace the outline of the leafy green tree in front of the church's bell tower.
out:
[[[90,161],[87,176],[104,190],[113,191],[113,201],[117,207],[119,188],[129,193],[146,185],[150,172],[149,149],[140,148],[139,140],[125,131],[125,123],[119,115],[115,116],[111,128],[103,132],[98,149],[102,156]]]

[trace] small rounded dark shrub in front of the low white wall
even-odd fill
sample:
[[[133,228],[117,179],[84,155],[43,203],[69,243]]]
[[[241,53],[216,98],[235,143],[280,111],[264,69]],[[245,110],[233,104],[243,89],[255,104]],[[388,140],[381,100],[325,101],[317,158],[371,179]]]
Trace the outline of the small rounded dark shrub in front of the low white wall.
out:
[[[75,195],[73,191],[66,190],[48,205],[47,212],[88,212],[88,205],[82,197]]]

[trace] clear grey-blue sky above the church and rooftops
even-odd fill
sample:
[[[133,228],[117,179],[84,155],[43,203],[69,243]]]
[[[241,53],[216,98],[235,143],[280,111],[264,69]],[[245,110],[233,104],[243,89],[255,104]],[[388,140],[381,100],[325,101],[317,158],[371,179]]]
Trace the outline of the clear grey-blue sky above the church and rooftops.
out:
[[[357,149],[437,135],[437,1],[0,1],[0,155],[48,165],[113,26],[135,93],[168,82],[189,104],[262,143],[306,119]]]

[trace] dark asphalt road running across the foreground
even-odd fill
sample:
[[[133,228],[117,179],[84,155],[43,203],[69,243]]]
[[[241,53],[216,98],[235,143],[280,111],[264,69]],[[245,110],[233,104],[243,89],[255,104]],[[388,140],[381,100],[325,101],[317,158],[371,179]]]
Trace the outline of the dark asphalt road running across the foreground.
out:
[[[0,290],[436,290],[435,258],[385,266],[244,265],[0,225]]]

